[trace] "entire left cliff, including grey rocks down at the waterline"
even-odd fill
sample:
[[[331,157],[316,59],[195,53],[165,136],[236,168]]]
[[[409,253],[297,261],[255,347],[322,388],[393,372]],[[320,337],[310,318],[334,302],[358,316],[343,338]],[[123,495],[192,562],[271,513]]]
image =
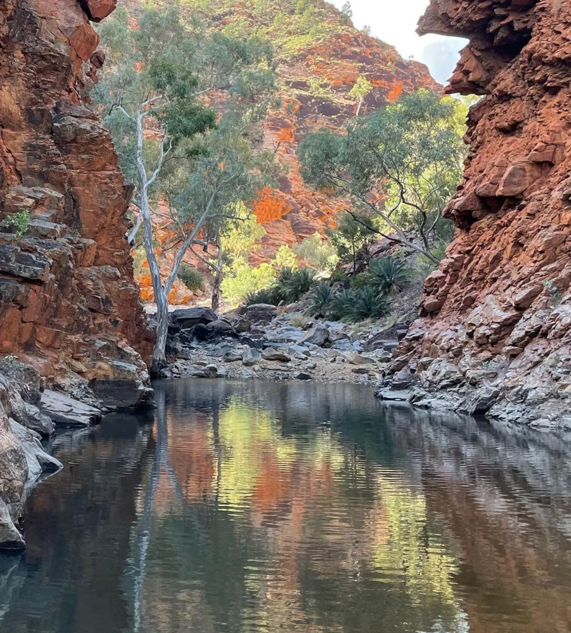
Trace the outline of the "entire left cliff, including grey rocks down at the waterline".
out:
[[[104,59],[89,18],[113,8],[0,2],[0,547],[24,546],[25,492],[61,467],[40,444],[52,418],[85,425],[102,403],[151,392],[153,334],[124,238],[130,189],[85,105]]]

